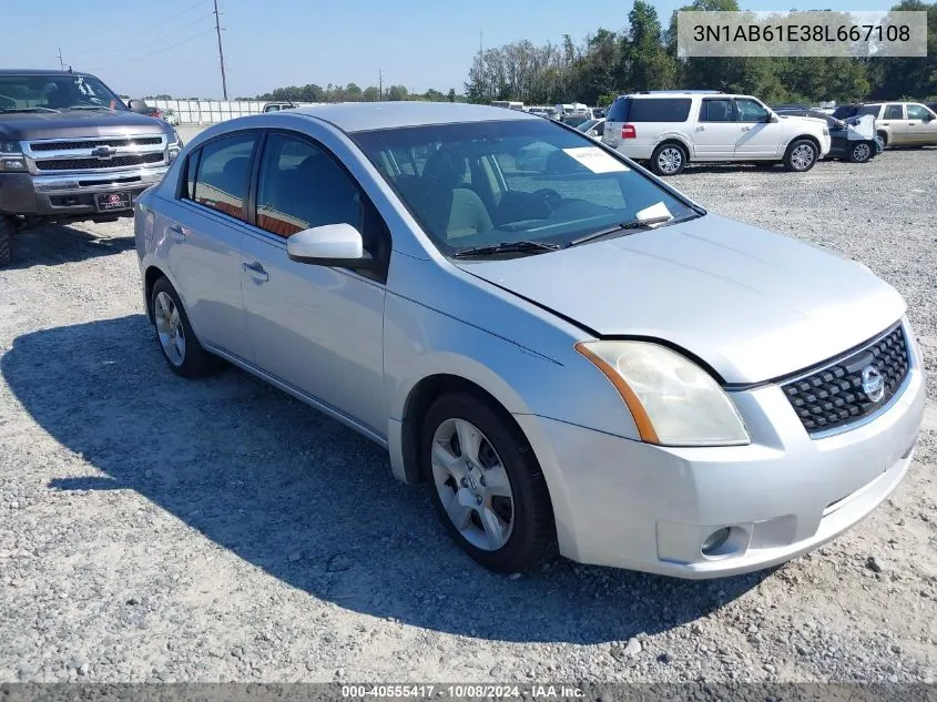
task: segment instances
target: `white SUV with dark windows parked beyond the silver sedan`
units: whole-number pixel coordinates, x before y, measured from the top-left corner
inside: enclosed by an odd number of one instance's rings
[[[750,95],[661,91],[621,95],[609,108],[602,141],[658,175],[691,161],[783,163],[809,171],[829,152],[823,120],[781,116]]]

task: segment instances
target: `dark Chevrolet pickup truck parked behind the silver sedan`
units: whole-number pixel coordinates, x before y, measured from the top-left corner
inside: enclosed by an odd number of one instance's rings
[[[133,216],[181,146],[93,75],[0,70],[0,267],[23,227]]]

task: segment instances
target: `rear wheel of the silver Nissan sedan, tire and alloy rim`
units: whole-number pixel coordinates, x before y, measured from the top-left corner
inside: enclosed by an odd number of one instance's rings
[[[165,277],[153,285],[150,308],[156,342],[173,373],[184,378],[198,378],[217,370],[220,359],[202,348],[195,338],[179,293]]]

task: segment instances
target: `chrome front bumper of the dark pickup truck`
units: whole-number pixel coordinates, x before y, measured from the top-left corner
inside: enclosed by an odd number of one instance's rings
[[[55,175],[0,174],[0,213],[42,217],[131,216],[132,200],[163,180],[167,165]],[[98,212],[94,195],[131,193],[131,207]]]

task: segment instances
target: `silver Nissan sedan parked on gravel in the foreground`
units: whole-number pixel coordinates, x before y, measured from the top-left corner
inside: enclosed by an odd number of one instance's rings
[[[385,446],[499,571],[556,550],[684,578],[765,568],[855,525],[911,464],[923,365],[894,288],[550,120],[231,120],[139,199],[135,235],[172,370],[233,364]]]

